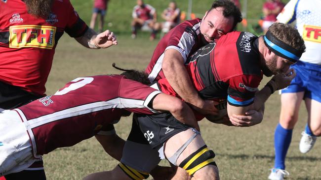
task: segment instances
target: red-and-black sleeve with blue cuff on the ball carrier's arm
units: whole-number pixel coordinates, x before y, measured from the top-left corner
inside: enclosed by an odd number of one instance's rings
[[[254,102],[255,92],[262,78],[257,75],[240,75],[229,80],[228,102],[234,106],[248,106]]]

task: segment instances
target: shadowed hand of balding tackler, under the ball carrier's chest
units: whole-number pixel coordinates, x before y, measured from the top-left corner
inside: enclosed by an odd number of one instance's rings
[[[216,101],[201,99],[198,105],[192,107],[202,115],[218,115],[218,110],[215,107],[218,104]]]

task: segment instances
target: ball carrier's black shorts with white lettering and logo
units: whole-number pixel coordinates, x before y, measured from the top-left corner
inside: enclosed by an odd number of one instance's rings
[[[191,126],[181,123],[176,120],[170,113],[158,114],[158,115],[141,115],[134,114],[134,122],[139,126],[140,135],[134,135],[138,133],[130,133],[128,140],[136,143],[148,142],[148,144],[154,149],[163,144],[170,137],[175,134],[185,131],[191,128]],[[138,126],[132,126],[132,128],[138,128]],[[138,131],[132,129],[132,131]],[[132,137],[130,137],[132,136]],[[142,140],[142,138],[146,140]]]

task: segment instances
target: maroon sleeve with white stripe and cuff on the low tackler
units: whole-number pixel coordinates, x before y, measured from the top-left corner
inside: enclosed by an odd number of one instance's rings
[[[148,104],[161,91],[125,78],[122,78],[119,90],[121,108],[139,114],[159,113],[149,108]]]

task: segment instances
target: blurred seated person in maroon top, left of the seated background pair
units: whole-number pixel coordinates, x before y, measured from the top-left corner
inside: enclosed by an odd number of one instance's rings
[[[155,39],[156,30],[154,30],[157,22],[157,13],[153,6],[145,4],[143,0],[137,0],[132,12],[133,20],[131,22],[131,37],[134,39],[137,35],[137,30],[152,31],[150,40]]]

